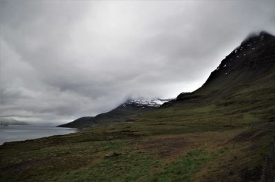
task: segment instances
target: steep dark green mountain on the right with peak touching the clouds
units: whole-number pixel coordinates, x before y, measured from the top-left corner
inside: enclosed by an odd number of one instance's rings
[[[226,56],[201,88],[178,95],[150,117],[164,113],[175,117],[192,110],[197,116],[217,113],[230,123],[269,121],[275,119],[274,99],[275,38],[261,32],[246,38]]]

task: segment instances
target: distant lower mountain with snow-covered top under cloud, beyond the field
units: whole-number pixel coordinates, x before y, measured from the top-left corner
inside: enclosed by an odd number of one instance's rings
[[[107,112],[101,113],[96,116],[80,117],[73,122],[67,124],[62,124],[58,127],[67,128],[86,128],[91,126],[99,126],[106,124],[113,124],[118,122],[131,122],[133,117],[146,113],[148,111],[153,111],[159,106],[168,102],[171,99],[155,99],[155,100],[127,100],[115,109]]]

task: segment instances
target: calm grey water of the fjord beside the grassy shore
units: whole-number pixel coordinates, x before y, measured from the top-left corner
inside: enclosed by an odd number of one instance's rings
[[[21,141],[75,132],[74,128],[50,126],[0,126],[0,145],[7,141]]]

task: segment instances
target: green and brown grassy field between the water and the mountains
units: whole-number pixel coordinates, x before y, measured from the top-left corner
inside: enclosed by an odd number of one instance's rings
[[[0,181],[257,181],[274,131],[193,112],[4,144]]]

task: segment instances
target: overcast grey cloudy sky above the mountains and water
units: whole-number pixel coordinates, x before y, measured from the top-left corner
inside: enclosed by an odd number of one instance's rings
[[[1,1],[0,115],[64,124],[195,91],[275,1]]]

